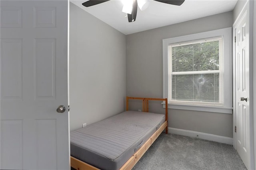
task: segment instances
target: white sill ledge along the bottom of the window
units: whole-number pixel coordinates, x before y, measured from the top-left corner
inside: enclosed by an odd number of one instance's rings
[[[162,103],[165,108],[165,103]],[[200,105],[182,105],[182,104],[168,104],[168,109],[181,109],[189,111],[203,111],[203,112],[214,112],[214,113],[227,113],[232,114],[232,107],[218,107],[218,106],[200,106]]]

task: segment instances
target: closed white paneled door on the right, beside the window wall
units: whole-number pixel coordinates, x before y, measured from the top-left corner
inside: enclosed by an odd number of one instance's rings
[[[247,6],[248,7],[248,4]],[[250,120],[250,73],[249,73],[249,8],[244,8],[237,24],[234,25],[234,62],[235,62],[235,89],[234,114],[236,117],[235,148],[245,166],[251,169],[251,120]]]

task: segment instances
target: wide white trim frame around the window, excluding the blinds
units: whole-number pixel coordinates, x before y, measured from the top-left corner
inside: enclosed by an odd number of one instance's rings
[[[214,37],[223,38],[223,105],[194,105],[171,103],[168,101],[168,108],[193,111],[207,111],[216,113],[232,114],[232,28],[223,28],[186,36],[164,39],[163,43],[163,97],[168,98],[168,46],[170,44],[185,43],[209,39]],[[165,105],[163,105],[165,107]]]

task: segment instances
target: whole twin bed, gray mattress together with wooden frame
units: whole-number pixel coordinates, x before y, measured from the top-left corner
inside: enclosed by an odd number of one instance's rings
[[[128,111],[129,99],[142,112]],[[165,101],[165,115],[148,113],[148,101]],[[126,97],[126,111],[70,132],[71,167],[76,170],[130,170],[165,129],[167,99]]]

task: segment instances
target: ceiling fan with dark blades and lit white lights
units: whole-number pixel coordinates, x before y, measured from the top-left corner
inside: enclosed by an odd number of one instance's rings
[[[82,3],[82,5],[89,7],[89,6],[94,6],[107,1],[109,0],[88,0]],[[185,0],[155,0],[155,1],[162,2],[165,4],[180,6],[181,4],[183,4]],[[127,13],[128,22],[134,22],[136,20],[138,6],[140,10],[143,11],[148,7],[148,4],[149,4],[148,0],[122,0],[122,2],[124,4],[122,12]]]

